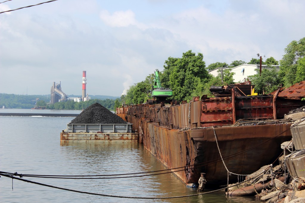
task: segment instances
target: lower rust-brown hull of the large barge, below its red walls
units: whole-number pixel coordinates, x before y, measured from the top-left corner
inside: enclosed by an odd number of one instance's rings
[[[145,119],[139,119],[137,123],[140,142],[167,168],[182,167],[172,171],[176,171],[175,174],[184,183],[197,183],[200,173],[206,173],[207,186],[227,183],[227,171],[221,162],[213,128],[179,131],[149,123]],[[289,127],[290,124],[215,128],[228,170],[237,174],[250,174],[272,163],[282,151],[280,144],[291,139],[290,130],[287,130]],[[278,134],[281,135],[267,141]],[[259,144],[262,145],[236,154]],[[231,180],[236,182],[237,176],[231,175]]]

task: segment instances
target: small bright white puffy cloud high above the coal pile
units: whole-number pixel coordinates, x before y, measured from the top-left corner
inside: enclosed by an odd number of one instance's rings
[[[127,27],[129,25],[136,25],[135,13],[131,10],[116,11],[113,15],[109,14],[107,10],[102,10],[100,13],[101,20],[110,27]]]

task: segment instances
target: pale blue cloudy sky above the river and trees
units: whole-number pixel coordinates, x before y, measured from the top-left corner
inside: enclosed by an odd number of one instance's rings
[[[4,2],[2,0],[1,2]],[[0,3],[0,12],[47,0]],[[303,0],[58,0],[0,14],[0,93],[120,96],[192,50],[208,66],[282,59],[305,37]]]

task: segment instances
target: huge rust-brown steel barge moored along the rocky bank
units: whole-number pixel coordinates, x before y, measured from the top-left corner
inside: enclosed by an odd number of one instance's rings
[[[243,85],[252,91],[251,84]],[[184,183],[198,183],[200,173],[206,173],[207,186],[220,186],[227,184],[227,169],[250,174],[276,160],[280,144],[291,140],[291,123],[278,119],[304,105],[300,99],[279,97],[280,89],[246,96],[242,87],[231,88],[230,95],[194,97],[189,103],[121,106],[116,111],[133,123],[139,142]],[[236,178],[229,176],[230,182]]]

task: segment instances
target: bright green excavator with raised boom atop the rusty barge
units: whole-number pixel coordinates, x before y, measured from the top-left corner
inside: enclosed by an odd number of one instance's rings
[[[161,102],[168,102],[167,98],[173,96],[173,91],[171,88],[161,87],[161,81],[159,77],[159,71],[155,71],[154,84],[152,85],[152,98],[148,99],[147,103],[156,104]]]

